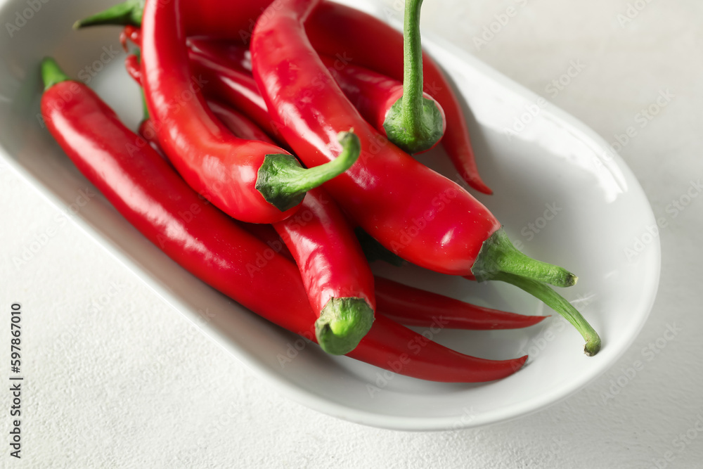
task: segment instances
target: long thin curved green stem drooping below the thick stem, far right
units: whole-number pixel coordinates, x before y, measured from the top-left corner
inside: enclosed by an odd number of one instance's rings
[[[565,300],[564,297],[556,293],[554,290],[549,288],[547,285],[541,282],[531,280],[529,278],[523,278],[514,274],[500,273],[494,276],[494,280],[503,281],[515,285],[517,288],[521,288],[530,295],[543,301],[548,307],[557,311],[557,313],[564,316],[564,318],[572,323],[572,325],[579,331],[581,336],[586,340],[586,346],[583,347],[583,352],[588,356],[593,356],[600,351],[600,336],[591,327],[591,324],[586,321],[586,319],[581,316],[581,313],[576,310]]]

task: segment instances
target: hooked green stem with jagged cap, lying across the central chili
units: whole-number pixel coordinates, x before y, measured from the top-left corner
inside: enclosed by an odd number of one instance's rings
[[[337,135],[342,153],[323,165],[305,169],[293,155],[266,155],[259,168],[257,190],[281,212],[302,202],[305,193],[347,171],[359,158],[361,143],[352,130]]]

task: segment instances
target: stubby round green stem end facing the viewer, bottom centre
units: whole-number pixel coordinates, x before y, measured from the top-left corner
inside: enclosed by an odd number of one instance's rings
[[[328,354],[352,352],[373,324],[373,309],[362,298],[331,298],[315,321],[318,344]]]

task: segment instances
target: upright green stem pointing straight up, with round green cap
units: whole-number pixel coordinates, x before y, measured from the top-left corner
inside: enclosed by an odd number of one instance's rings
[[[410,154],[429,150],[444,134],[444,116],[435,101],[423,96],[422,5],[423,0],[406,0],[403,96],[391,106],[383,122],[389,140]]]

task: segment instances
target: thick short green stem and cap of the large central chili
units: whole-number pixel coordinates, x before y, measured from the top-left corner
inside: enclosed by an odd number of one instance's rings
[[[471,273],[479,282],[494,280],[501,273],[515,274],[557,287],[570,287],[579,280],[567,269],[524,255],[512,245],[502,226],[484,241]]]

